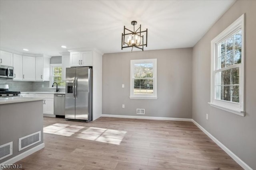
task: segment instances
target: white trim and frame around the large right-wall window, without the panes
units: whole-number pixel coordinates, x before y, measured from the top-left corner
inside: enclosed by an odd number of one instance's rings
[[[235,113],[240,116],[245,116],[244,110],[244,57],[245,57],[245,34],[244,34],[244,17],[243,14],[236,21],[234,21],[230,26],[228,26],[224,31],[222,31],[217,37],[211,41],[211,102],[210,106],[216,107],[231,113]],[[239,72],[239,103],[228,102],[224,100],[215,99],[215,70],[216,70],[216,46],[218,43],[222,42],[224,39],[232,35],[234,32],[242,29],[242,60],[240,64]]]

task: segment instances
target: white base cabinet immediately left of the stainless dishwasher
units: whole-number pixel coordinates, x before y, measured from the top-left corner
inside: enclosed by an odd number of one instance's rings
[[[44,116],[55,117],[54,115],[54,94],[36,94],[36,98],[44,98],[43,113]]]

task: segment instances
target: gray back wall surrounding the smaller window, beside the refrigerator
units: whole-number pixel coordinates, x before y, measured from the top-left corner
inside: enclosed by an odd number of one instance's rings
[[[130,60],[155,58],[158,99],[130,99]],[[145,109],[140,116],[192,118],[192,48],[103,55],[102,114],[137,115],[136,108]]]

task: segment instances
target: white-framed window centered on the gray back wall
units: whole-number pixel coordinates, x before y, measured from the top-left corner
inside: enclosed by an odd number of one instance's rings
[[[156,59],[131,60],[130,98],[156,99]]]

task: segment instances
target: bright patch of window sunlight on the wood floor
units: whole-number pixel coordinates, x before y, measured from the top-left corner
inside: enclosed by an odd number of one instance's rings
[[[79,139],[86,139],[90,141],[98,141],[115,145],[120,145],[126,134],[126,131],[118,131],[114,129],[104,129],[98,127],[89,127],[88,129],[85,128],[87,127],[54,123],[44,127],[44,133],[51,133],[54,135],[62,136],[74,136]]]

